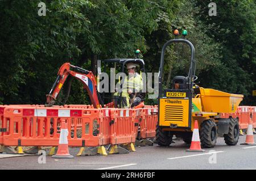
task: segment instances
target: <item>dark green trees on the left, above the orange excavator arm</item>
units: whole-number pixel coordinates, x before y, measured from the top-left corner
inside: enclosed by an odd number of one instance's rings
[[[103,59],[134,56],[137,48],[145,52],[144,36],[156,30],[158,15],[171,15],[179,4],[56,0],[45,1],[46,16],[38,16],[39,2],[0,2],[0,98],[5,104],[44,103],[64,62],[90,69],[95,54]],[[68,103],[86,103],[80,101],[83,94],[73,83]]]

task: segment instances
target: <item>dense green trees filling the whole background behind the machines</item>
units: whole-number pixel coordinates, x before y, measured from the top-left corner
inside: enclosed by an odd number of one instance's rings
[[[96,73],[98,58],[134,57],[139,48],[147,72],[158,72],[160,50],[177,28],[195,45],[200,86],[255,105],[255,1],[216,0],[217,16],[201,0],[45,0],[46,16],[38,15],[40,2],[0,1],[0,104],[43,104],[64,62]],[[168,47],[167,84],[187,73],[189,56],[186,45]],[[67,103],[89,103],[78,81]]]

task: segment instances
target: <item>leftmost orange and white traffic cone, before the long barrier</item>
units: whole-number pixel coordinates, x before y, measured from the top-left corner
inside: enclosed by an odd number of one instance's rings
[[[60,140],[56,155],[52,158],[74,158],[68,151],[68,124],[61,120]]]

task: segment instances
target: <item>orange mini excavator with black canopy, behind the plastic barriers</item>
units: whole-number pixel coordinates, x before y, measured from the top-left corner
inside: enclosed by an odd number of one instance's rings
[[[144,61],[138,58],[139,50],[136,52],[136,58],[114,58],[103,60],[103,62],[109,63],[119,63],[122,66],[122,72],[125,71],[125,65],[129,62],[134,62],[135,64],[139,64],[142,66],[142,70],[144,71]],[[72,69],[72,70],[71,70]],[[101,97],[100,92],[97,90],[97,81],[94,77],[92,71],[82,69],[78,66],[71,65],[69,62],[64,63],[58,73],[56,81],[53,83],[51,91],[46,95],[46,107],[51,107],[54,105],[57,96],[60,93],[61,88],[63,87],[65,81],[67,81],[68,76],[75,77],[79,81],[82,82],[83,88],[86,92],[88,92],[91,103],[94,108],[104,108],[104,107],[115,107],[117,108],[117,100],[114,102],[110,102],[104,105],[104,96]],[[121,99],[122,94],[119,94],[119,98]],[[143,107],[144,102],[142,101],[139,105],[134,106],[133,108]]]

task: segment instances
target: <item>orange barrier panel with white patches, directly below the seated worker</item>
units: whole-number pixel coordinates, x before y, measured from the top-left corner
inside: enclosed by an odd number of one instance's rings
[[[110,112],[110,144],[135,142],[135,116],[135,109],[112,108]]]

